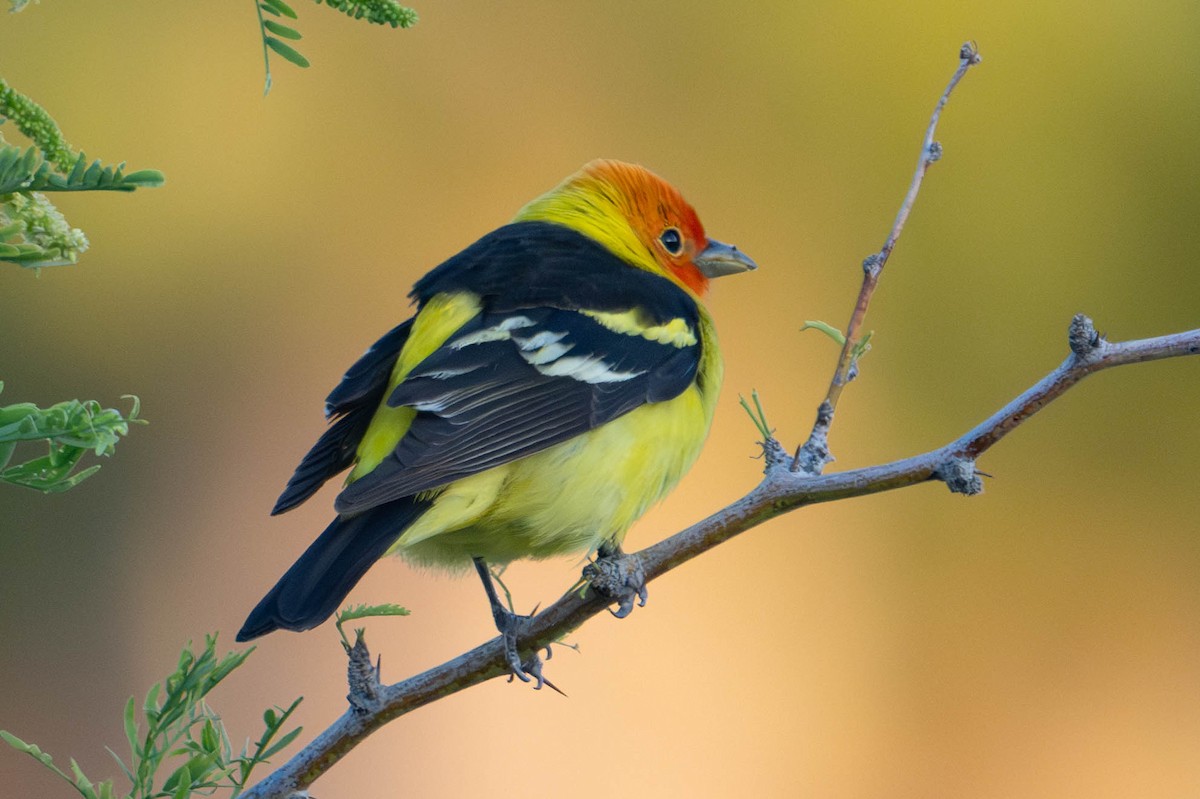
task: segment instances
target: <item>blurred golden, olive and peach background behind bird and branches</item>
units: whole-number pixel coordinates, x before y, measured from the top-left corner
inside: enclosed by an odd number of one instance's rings
[[[976,38],[844,397],[838,468],[931,449],[1112,338],[1200,323],[1194,2],[418,2],[410,31],[296,2],[300,71],[262,96],[250,2],[53,0],[0,19],[0,74],[68,139],[164,188],[61,198],[91,251],[0,269],[4,400],[142,397],[77,489],[0,487],[0,727],[114,774],[121,708],[245,613],[326,523],[270,509],[322,401],[412,282],[598,156],[683,188],[761,270],[714,286],[709,445],[636,548],[755,485],[757,389],[804,437],[860,259]],[[358,797],[1200,795],[1200,362],[1087,380],[937,485],[770,522],[598,618],[551,675],[374,735],[314,786]],[[32,450],[28,450],[32,453]],[[514,567],[518,603],[578,564]],[[474,578],[378,565],[355,601],[400,679],[493,635]],[[235,734],[344,707],[331,626],[260,642],[214,697]],[[0,751],[0,794],[70,789]]]

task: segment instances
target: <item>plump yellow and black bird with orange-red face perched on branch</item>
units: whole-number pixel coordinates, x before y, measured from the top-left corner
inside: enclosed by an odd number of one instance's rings
[[[330,426],[271,513],[349,469],[337,516],[238,641],[317,626],[397,554],[474,566],[510,669],[540,686],[540,661],[517,655],[529,617],[499,602],[488,565],[620,552],[712,425],[724,362],[709,280],[754,269],[666,180],[598,160],[431,270],[415,314],[325,400]]]

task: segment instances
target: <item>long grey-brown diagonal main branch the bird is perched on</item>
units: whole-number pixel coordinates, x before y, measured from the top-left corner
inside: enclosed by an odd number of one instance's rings
[[[833,475],[792,471],[786,462],[768,461],[766,476],[749,494],[682,533],[634,554],[649,582],[696,555],[712,549],[787,511],[851,497],[904,488],[930,480],[952,491],[978,493],[982,485],[974,459],[1018,425],[1093,372],[1114,366],[1200,354],[1200,330],[1111,344],[1098,335],[1087,317],[1072,320],[1072,353],[1067,360],[990,419],[962,437],[924,455]],[[542,649],[575,630],[607,606],[588,591],[570,591],[534,617],[522,641],[522,656]],[[242,794],[244,799],[284,799],[304,792],[334,763],[376,729],[410,710],[508,673],[503,644],[493,638],[454,660],[395,685],[378,689],[371,710],[348,709],[325,732],[274,774]]]

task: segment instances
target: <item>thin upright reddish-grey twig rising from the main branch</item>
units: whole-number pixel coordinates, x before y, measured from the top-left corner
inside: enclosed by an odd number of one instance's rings
[[[954,86],[959,85],[959,80],[967,73],[967,70],[982,60],[983,56],[979,55],[979,50],[973,42],[967,42],[959,49],[959,68],[950,77],[946,91],[942,92],[937,106],[934,108],[934,114],[929,119],[925,138],[920,143],[920,157],[917,160],[917,170],[913,173],[912,182],[908,185],[908,193],[905,194],[895,222],[892,223],[892,230],[888,233],[883,247],[863,260],[863,287],[858,292],[858,300],[854,302],[854,312],[850,317],[850,324],[846,325],[841,355],[838,358],[838,366],[834,368],[833,379],[829,382],[829,391],[826,392],[826,398],[817,408],[817,417],[812,423],[812,432],[809,433],[809,440],[796,450],[796,457],[792,458],[793,471],[821,474],[826,464],[833,461],[833,456],[829,453],[829,426],[833,423],[834,413],[838,410],[838,400],[841,397],[841,390],[846,388],[847,383],[854,379],[858,370],[858,352],[863,342],[859,337],[859,331],[863,329],[863,319],[866,318],[866,308],[871,304],[871,298],[875,295],[875,287],[880,283],[883,268],[887,265],[888,258],[892,257],[892,251],[895,250],[905,222],[908,221],[912,206],[917,202],[917,194],[920,192],[922,181],[925,180],[925,173],[929,170],[931,163],[942,157],[942,145],[934,140],[937,122],[942,118],[942,109],[946,108],[946,102],[950,98],[950,92],[954,91]]]

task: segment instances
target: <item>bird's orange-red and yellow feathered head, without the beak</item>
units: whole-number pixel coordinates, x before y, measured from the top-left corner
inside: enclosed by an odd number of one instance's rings
[[[704,226],[678,188],[644,167],[592,161],[514,218],[532,221],[572,228],[696,296],[708,290],[708,277],[694,263],[709,245]]]

